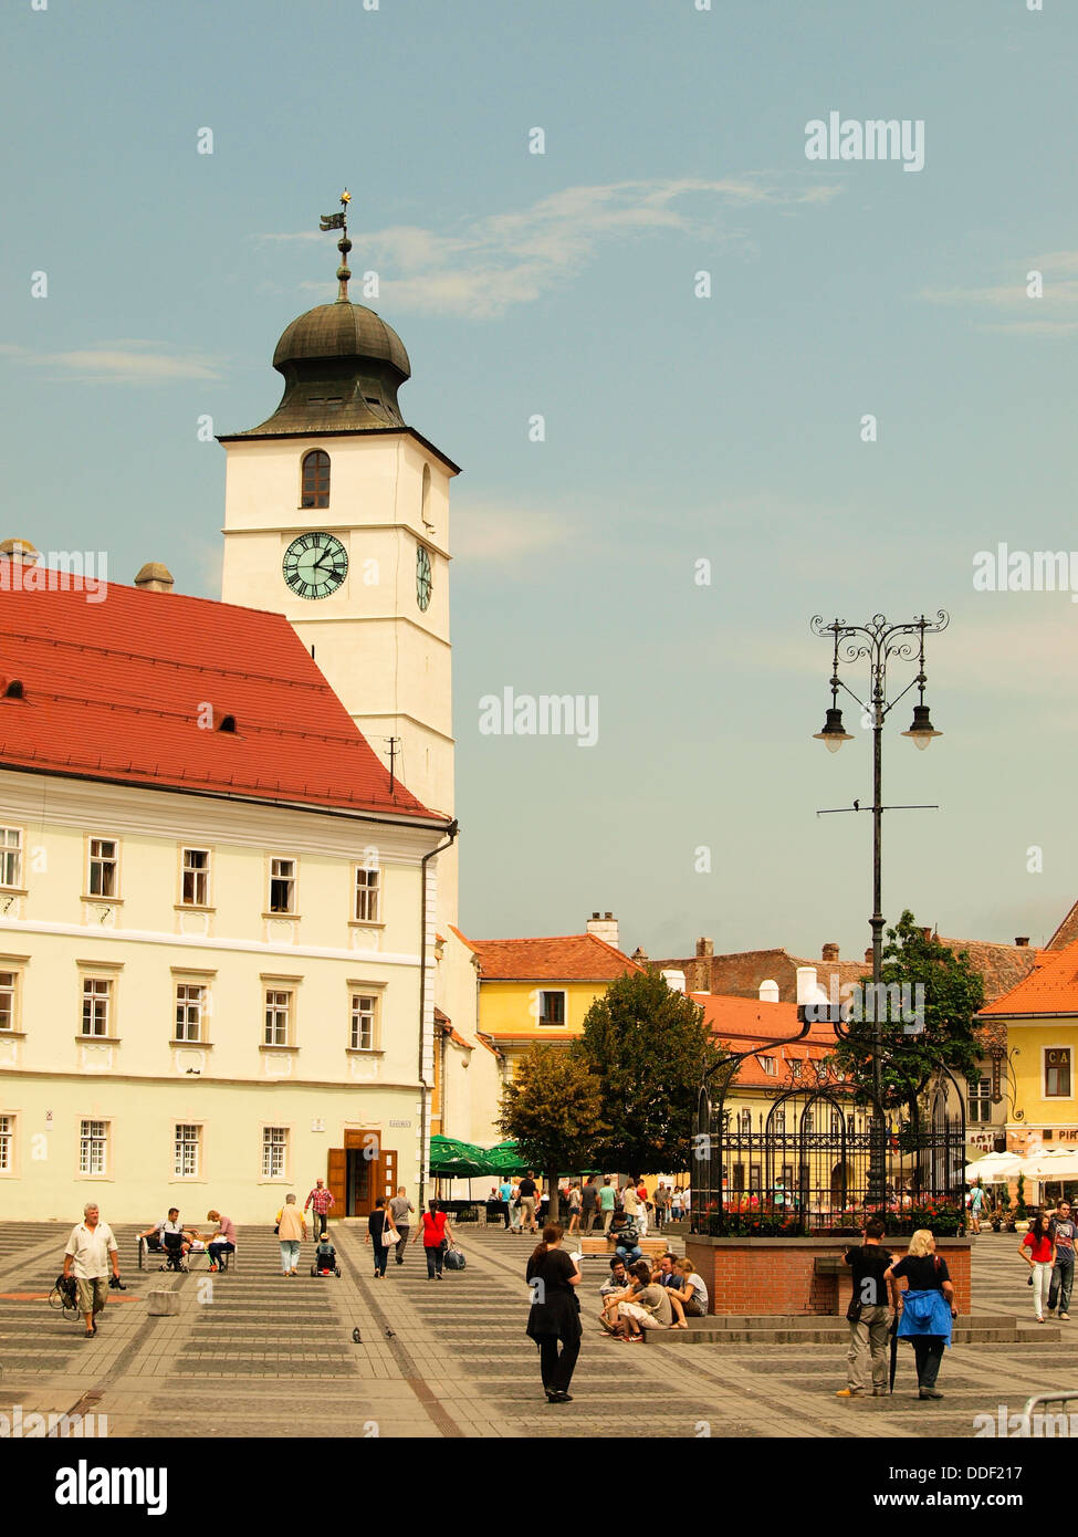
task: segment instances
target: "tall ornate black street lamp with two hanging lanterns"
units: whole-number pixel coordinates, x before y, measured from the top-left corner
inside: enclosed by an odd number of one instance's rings
[[[835,619],[824,624],[821,615],[812,619],[815,635],[829,635],[833,641],[833,659],[830,672],[830,709],[823,730],[815,733],[815,741],[823,742],[829,752],[838,752],[843,742],[852,736],[843,727],[843,712],[838,707],[838,690],[843,689],[861,707],[863,716],[872,725],[872,993],[873,993],[873,1031],[872,1031],[872,1111],[877,1134],[872,1137],[869,1162],[869,1199],[883,1202],[886,1188],[886,1117],[883,1110],[883,1021],[878,1002],[883,996],[883,930],[884,916],[881,911],[881,845],[883,845],[883,813],[900,810],[937,810],[937,807],[898,807],[883,804],[883,722],[893,707],[904,699],[910,689],[918,690],[918,704],[913,705],[913,722],[903,736],[909,736],[918,749],[926,749],[933,736],[941,736],[932,725],[929,707],[924,702],[924,636],[946,630],[947,613],[938,610],[937,618],[929,621],[921,615],[904,624],[889,624],[883,613],[873,613],[867,624],[846,624]],[[887,699],[887,666],[892,661],[910,661],[917,658],[917,675],[910,682]],[[853,690],[840,678],[840,662],[857,666],[869,664],[867,699],[860,699]],[[850,810],[850,807],[837,807]],[[852,810],[869,810],[853,802]],[[841,1034],[846,1031],[837,1025]]]

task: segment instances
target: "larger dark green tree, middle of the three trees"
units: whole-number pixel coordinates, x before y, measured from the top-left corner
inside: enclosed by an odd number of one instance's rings
[[[687,1170],[701,1076],[726,1057],[700,1004],[658,971],[629,973],[587,1010],[581,1050],[615,1117],[600,1162],[626,1174]]]

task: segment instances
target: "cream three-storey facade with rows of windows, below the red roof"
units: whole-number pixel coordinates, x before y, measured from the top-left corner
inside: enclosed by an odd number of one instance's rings
[[[12,773],[0,825],[22,853],[20,885],[0,885],[6,1217],[68,1219],[92,1196],[115,1220],[177,1205],[266,1222],[318,1176],[337,1214],[418,1188],[420,882],[437,832]],[[372,848],[377,919],[357,922]],[[294,916],[271,913],[274,868]]]

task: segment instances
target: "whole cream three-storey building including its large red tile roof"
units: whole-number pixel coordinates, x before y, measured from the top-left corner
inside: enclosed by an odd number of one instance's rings
[[[451,824],[283,616],[0,566],[5,1217],[417,1191]]]

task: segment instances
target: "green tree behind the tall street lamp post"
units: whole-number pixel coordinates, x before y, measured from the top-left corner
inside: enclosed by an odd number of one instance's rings
[[[857,1097],[872,1096],[872,1041],[875,1021],[881,1019],[883,1104],[910,1110],[932,1073],[949,1068],[957,1079],[980,1077],[980,1027],[975,1014],[984,1004],[984,982],[970,964],[969,953],[955,954],[938,939],[918,928],[906,908],[895,928],[887,930],[883,950],[883,984],[887,996],[872,993],[872,978],[861,978],[861,1019],[849,1024],[849,1039],[832,1053],[833,1064],[855,1085]],[[907,991],[903,991],[907,990]],[[901,1005],[920,1017],[901,1016]],[[924,1028],[912,1033],[910,1024]]]

